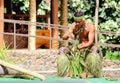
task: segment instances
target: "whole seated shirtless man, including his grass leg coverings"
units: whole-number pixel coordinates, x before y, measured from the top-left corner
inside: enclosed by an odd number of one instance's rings
[[[77,50],[72,53],[72,55],[76,52],[79,52],[79,49],[82,53],[82,58],[86,64],[86,66],[84,65],[84,69],[82,71],[82,73],[80,73],[80,77],[82,78],[86,78],[89,77],[90,75],[92,75],[93,77],[100,77],[101,75],[101,58],[99,56],[99,53],[97,53],[98,48],[96,46],[93,46],[94,43],[94,36],[95,36],[95,27],[92,23],[88,23],[84,20],[84,14],[83,12],[79,11],[79,12],[75,12],[74,14],[74,22],[72,23],[71,27],[69,28],[69,30],[63,35],[63,39],[68,39],[68,38],[75,38],[79,40],[79,44],[77,46]],[[84,55],[85,52],[85,48],[91,48],[89,49],[89,53]],[[71,51],[72,47],[68,46],[68,47],[63,47],[60,48],[60,52],[63,51],[62,53],[67,54],[66,55],[61,55],[58,58],[58,76],[70,76],[70,71],[64,72],[68,66],[68,68],[71,68],[70,65],[64,65],[64,64],[71,64],[71,61],[76,64],[74,64],[74,68],[72,69],[78,69],[76,70],[77,72],[79,72],[79,68],[77,68],[79,64],[82,64],[79,60],[77,60],[78,58],[75,58],[75,55],[72,56],[69,55],[69,51]],[[71,53],[71,52],[70,52]],[[87,56],[86,56],[87,55]],[[81,56],[81,55],[80,55]],[[81,60],[81,59],[80,59]],[[93,61],[94,60],[94,61]],[[80,62],[80,63],[77,63]],[[72,64],[72,65],[73,65]],[[82,64],[83,65],[83,64]],[[62,70],[61,70],[62,69]],[[68,69],[69,70],[69,69]],[[63,74],[63,72],[65,74]],[[72,71],[74,72],[74,70]],[[75,72],[76,73],[76,72]],[[79,73],[78,73],[79,74]],[[79,76],[77,74],[75,74],[76,76]]]

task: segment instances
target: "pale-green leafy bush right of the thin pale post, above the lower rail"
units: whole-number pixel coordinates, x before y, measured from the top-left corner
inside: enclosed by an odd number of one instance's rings
[[[120,2],[118,0],[105,0],[99,8],[99,30],[120,32]],[[110,39],[118,39],[118,36],[99,35],[100,42],[108,42]],[[120,42],[120,40],[118,41]],[[119,44],[119,43],[118,43]]]

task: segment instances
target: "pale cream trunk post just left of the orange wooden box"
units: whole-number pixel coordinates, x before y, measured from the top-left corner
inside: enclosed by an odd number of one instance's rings
[[[32,23],[28,29],[28,33],[29,35],[35,36],[36,35],[36,26],[35,26],[35,22],[36,22],[36,0],[29,0],[30,2],[30,22]],[[33,25],[34,23],[34,25]],[[34,37],[29,37],[28,38],[28,49],[29,50],[35,50],[36,44],[36,38]]]

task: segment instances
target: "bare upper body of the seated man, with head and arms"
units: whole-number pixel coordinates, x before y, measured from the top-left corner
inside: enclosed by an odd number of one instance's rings
[[[79,45],[78,48],[83,50],[84,48],[93,45],[95,36],[95,27],[91,23],[87,23],[84,20],[83,12],[75,12],[74,22],[72,23],[69,30],[63,35],[63,39],[75,38],[78,36]]]

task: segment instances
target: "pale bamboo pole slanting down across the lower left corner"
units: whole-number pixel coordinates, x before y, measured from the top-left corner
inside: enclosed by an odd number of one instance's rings
[[[24,68],[21,68],[19,66],[16,66],[16,65],[13,65],[13,64],[10,64],[8,62],[5,62],[3,60],[0,60],[0,64],[5,66],[5,67],[8,67],[8,68],[11,68],[11,69],[14,69],[14,70],[17,70],[17,71],[20,71],[22,73],[25,73],[25,74],[29,74],[29,75],[32,75],[34,77],[37,77],[41,80],[45,80],[45,77],[41,74],[38,74],[36,72],[33,72],[33,71],[30,71],[30,70],[27,70],[27,69],[24,69]]]

